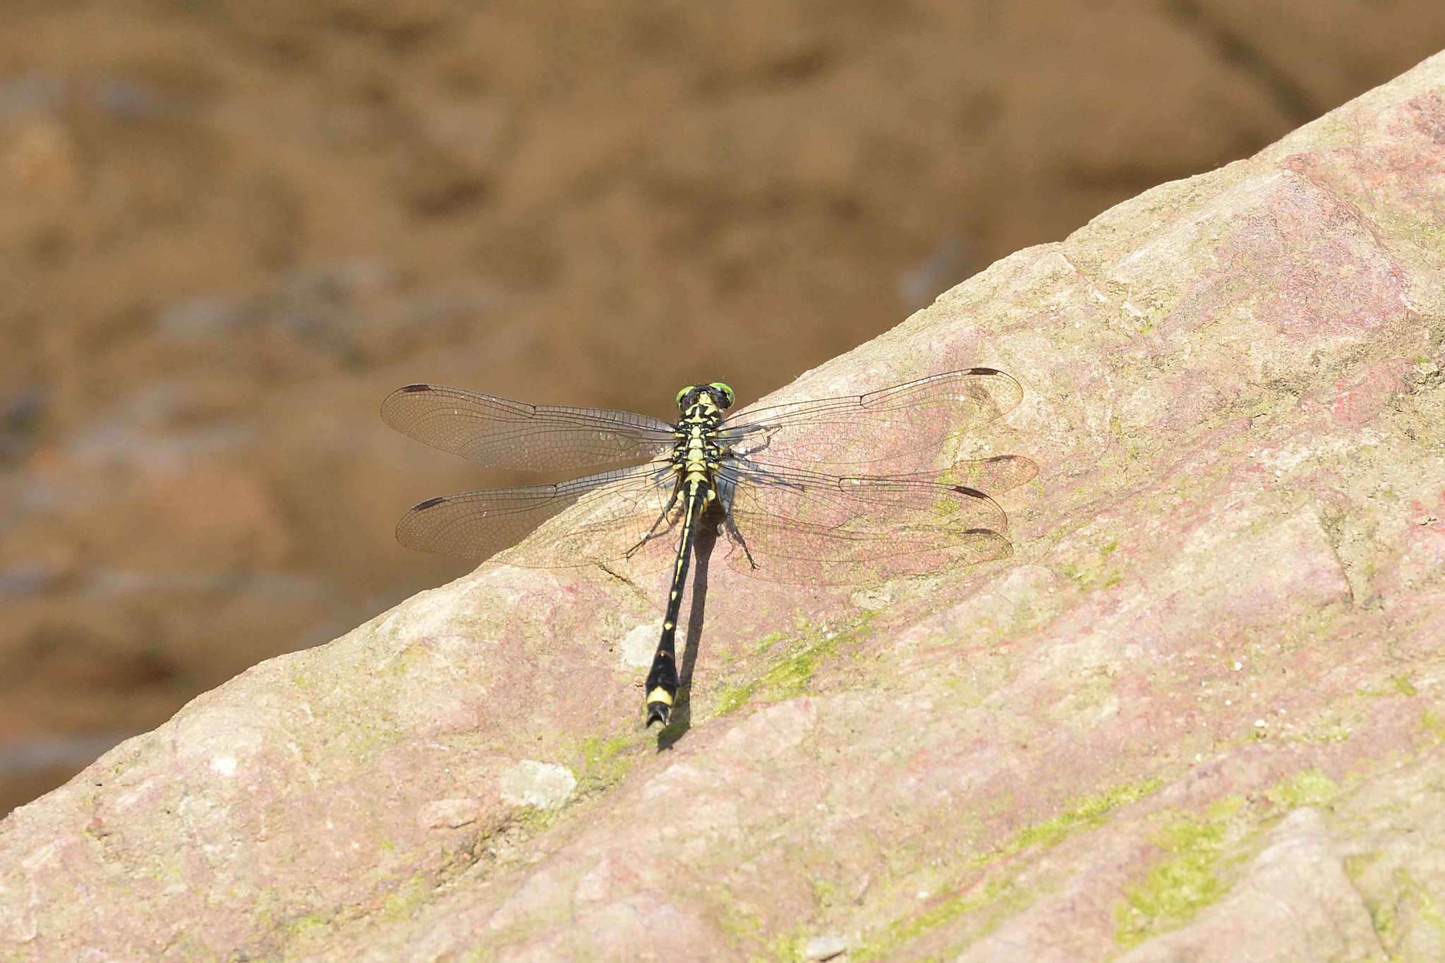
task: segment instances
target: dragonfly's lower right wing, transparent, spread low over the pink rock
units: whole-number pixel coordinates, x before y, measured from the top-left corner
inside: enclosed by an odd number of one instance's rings
[[[855,583],[1010,554],[993,498],[922,476],[838,476],[759,462],[720,472],[728,563],[776,582]],[[756,566],[756,567],[754,567]]]

